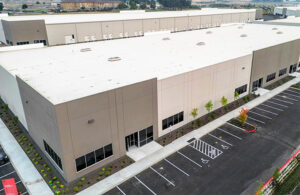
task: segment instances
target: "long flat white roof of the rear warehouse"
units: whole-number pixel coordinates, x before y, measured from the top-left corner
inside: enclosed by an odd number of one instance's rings
[[[46,24],[63,24],[79,22],[98,22],[115,20],[133,20],[149,18],[168,18],[180,16],[214,15],[226,13],[249,13],[255,9],[203,9],[189,11],[160,11],[160,12],[126,12],[105,14],[59,14],[59,15],[34,15],[34,16],[9,16],[6,21],[45,20]]]

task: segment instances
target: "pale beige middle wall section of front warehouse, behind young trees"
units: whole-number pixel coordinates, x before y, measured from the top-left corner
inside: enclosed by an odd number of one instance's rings
[[[211,100],[213,109],[221,106],[222,96],[233,101],[236,88],[248,84],[251,74],[252,55],[208,66],[167,79],[159,80],[158,90],[158,136],[190,122],[193,108],[199,109],[199,117],[206,114],[205,104]],[[222,79],[220,79],[222,78]],[[244,96],[247,92],[241,95]],[[162,130],[162,120],[184,111],[184,121],[172,129]]]

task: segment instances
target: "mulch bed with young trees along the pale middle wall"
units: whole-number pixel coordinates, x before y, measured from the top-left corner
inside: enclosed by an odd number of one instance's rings
[[[247,96],[244,96],[243,98],[240,98],[238,100],[235,100],[234,102],[228,104],[225,107],[219,108],[213,112],[210,112],[190,123],[187,123],[183,127],[180,127],[160,138],[158,138],[156,141],[162,145],[166,146],[169,143],[173,142],[174,140],[178,139],[179,137],[195,130],[198,129],[199,127],[206,125],[207,123],[223,116],[224,114],[231,112],[232,110],[244,105],[245,103],[253,100],[254,98],[258,97],[255,94],[249,94]]]

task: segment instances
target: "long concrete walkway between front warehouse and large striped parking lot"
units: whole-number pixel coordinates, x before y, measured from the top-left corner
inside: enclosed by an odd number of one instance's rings
[[[173,141],[172,143],[168,144],[167,146],[157,150],[155,153],[146,156],[139,161],[135,162],[134,164],[120,170],[119,172],[103,179],[102,181],[92,185],[91,187],[79,192],[79,195],[85,194],[104,194],[105,192],[111,190],[112,188],[120,185],[121,183],[125,182],[126,180],[130,179],[131,177],[141,173],[142,171],[148,169],[150,166],[158,163],[159,161],[163,160],[164,158],[168,157],[169,155],[175,153],[176,151],[184,148],[189,143],[187,142],[191,138],[201,138],[202,136],[208,134],[209,132],[215,130],[217,127],[223,125],[228,120],[237,117],[241,108],[252,109],[253,107],[263,103],[264,101],[272,98],[273,96],[281,93],[282,91],[289,88],[291,85],[300,82],[299,74],[295,79],[277,87],[276,89],[266,92],[264,91],[264,95],[248,102],[247,104],[223,115],[222,117],[208,123],[207,125],[196,129],[178,139]]]

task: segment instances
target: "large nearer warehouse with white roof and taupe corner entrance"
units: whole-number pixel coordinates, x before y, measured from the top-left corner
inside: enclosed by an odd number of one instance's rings
[[[202,116],[210,100],[218,109],[222,96],[287,76],[299,55],[297,28],[260,24],[10,51],[0,95],[14,86],[9,106],[22,105],[29,134],[72,182],[187,124],[193,108]]]

